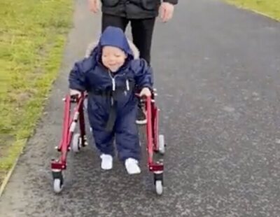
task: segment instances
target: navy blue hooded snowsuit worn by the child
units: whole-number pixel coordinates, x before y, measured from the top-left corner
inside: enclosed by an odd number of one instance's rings
[[[127,54],[125,64],[114,73],[102,64],[104,45],[118,47]],[[151,89],[152,69],[144,59],[134,59],[123,30],[116,27],[108,27],[90,57],[76,62],[69,74],[69,88],[88,93],[87,112],[97,148],[101,153],[114,155],[116,136],[118,157],[122,161],[140,158],[135,85],[140,90]]]

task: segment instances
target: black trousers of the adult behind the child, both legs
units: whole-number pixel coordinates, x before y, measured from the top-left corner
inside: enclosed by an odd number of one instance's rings
[[[102,32],[106,27],[119,27],[125,31],[128,23],[132,27],[132,41],[140,52],[140,58],[146,59],[148,64],[151,63],[151,45],[153,38],[153,28],[155,18],[149,19],[127,19],[118,16],[102,14]]]

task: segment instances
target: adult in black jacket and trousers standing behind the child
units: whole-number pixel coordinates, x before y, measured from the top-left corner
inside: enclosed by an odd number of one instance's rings
[[[90,10],[97,13],[100,0],[88,1]],[[178,0],[102,0],[101,2],[102,32],[108,26],[119,27],[125,31],[130,22],[133,43],[140,52],[140,58],[151,64],[155,18],[160,15],[162,22],[170,20]],[[146,123],[146,115],[141,109],[138,111],[137,123]]]

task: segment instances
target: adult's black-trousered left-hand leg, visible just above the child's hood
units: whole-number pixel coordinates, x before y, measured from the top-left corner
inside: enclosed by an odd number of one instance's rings
[[[109,26],[119,27],[125,31],[128,22],[127,18],[102,13],[102,32]]]

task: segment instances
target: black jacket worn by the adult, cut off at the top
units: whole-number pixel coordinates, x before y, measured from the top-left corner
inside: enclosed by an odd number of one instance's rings
[[[128,19],[146,19],[158,16],[161,0],[101,0],[102,13]],[[163,0],[177,4],[178,0]]]

